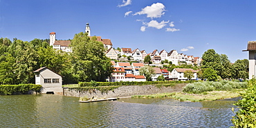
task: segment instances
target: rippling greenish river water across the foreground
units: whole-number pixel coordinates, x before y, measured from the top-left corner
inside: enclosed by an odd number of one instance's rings
[[[0,96],[1,127],[230,127],[237,98],[199,103],[172,98],[125,98],[79,103],[79,98]]]

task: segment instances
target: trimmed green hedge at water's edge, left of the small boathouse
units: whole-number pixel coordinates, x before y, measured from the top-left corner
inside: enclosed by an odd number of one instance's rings
[[[20,84],[20,85],[0,85],[0,95],[8,95],[14,93],[21,93],[25,94],[28,91],[35,91],[39,92],[42,85],[35,85],[35,84]]]

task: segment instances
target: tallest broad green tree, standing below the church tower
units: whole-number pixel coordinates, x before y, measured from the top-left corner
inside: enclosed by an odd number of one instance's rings
[[[102,42],[92,39],[87,33],[75,34],[71,41],[73,47],[74,73],[78,81],[106,81],[113,72],[110,59],[104,55]]]

